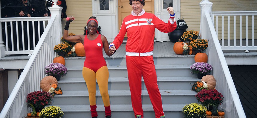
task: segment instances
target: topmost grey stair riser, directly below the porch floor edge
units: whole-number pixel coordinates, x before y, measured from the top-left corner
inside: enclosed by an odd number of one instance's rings
[[[194,57],[172,57],[172,58],[154,58],[155,65],[175,65],[178,63],[185,65],[192,65],[195,63]],[[66,67],[73,66],[83,66],[85,59],[76,59],[76,63],[74,63],[74,59],[65,59]],[[125,58],[105,58],[107,66],[126,66]],[[183,62],[183,63],[182,63]]]

